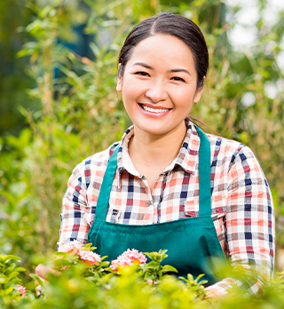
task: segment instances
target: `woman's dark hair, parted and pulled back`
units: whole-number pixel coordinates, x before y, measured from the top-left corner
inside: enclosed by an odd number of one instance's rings
[[[161,12],[143,20],[130,31],[118,58],[118,62],[121,63],[118,75],[123,75],[133,47],[146,37],[158,33],[176,36],[191,49],[197,72],[197,88],[202,87],[209,67],[209,55],[201,29],[192,20],[169,12]]]

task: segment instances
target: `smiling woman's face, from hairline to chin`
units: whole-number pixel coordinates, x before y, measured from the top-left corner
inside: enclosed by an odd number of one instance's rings
[[[185,117],[201,99],[193,53],[176,36],[149,36],[136,45],[116,90],[135,131],[185,134]]]

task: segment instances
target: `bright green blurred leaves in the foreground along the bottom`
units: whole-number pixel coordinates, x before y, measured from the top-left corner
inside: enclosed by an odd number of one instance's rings
[[[92,250],[87,245],[82,250]],[[16,284],[21,281],[16,267],[20,258],[1,256],[1,308],[281,308],[284,305],[284,272],[275,280],[264,282],[264,289],[258,296],[248,295],[243,289],[234,286],[223,297],[211,297],[200,281],[202,275],[193,279],[191,274],[183,281],[174,275],[163,272],[158,281],[151,284],[146,279],[145,272],[149,265],[165,258],[165,250],[147,254],[152,259],[147,265],[125,265],[119,273],[114,273],[105,262],[89,265],[78,258],[74,252],[59,252],[49,258],[56,273],[49,273],[47,281],[42,281],[31,273],[30,277],[39,282],[41,291],[36,296],[35,289],[20,293]],[[151,259],[151,258],[150,258]],[[161,266],[161,265],[160,265]],[[171,269],[169,269],[171,272]],[[239,269],[236,277],[246,280],[248,273]],[[19,286],[18,286],[19,287]]]

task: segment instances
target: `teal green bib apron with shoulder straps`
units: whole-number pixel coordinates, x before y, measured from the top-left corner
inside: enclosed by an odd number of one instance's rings
[[[201,129],[196,129],[201,139],[199,217],[180,218],[153,225],[106,222],[109,195],[117,167],[116,147],[106,168],[95,219],[88,234],[88,240],[97,248],[98,254],[107,256],[106,259],[111,261],[127,249],[142,252],[166,249],[169,257],[163,260],[163,264],[176,267],[178,276],[187,277],[187,273],[191,273],[196,278],[199,274],[205,273],[202,279],[208,280],[208,284],[217,281],[209,258],[218,257],[225,261],[225,255],[211,218],[210,144]]]

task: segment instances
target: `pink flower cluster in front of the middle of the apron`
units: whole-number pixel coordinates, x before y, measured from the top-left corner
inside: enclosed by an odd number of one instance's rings
[[[110,265],[110,268],[116,273],[120,268],[125,265],[133,265],[137,263],[138,265],[146,263],[146,256],[135,249],[128,249],[122,253],[117,259],[114,259]]]

